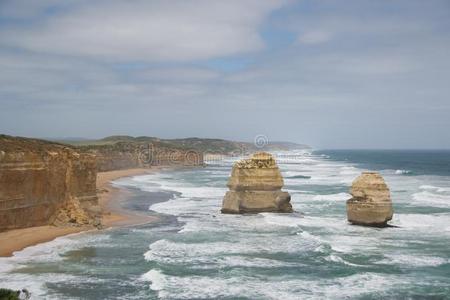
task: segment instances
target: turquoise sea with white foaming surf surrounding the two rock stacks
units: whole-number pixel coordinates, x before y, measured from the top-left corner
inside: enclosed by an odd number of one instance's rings
[[[37,299],[448,298],[450,153],[409,155],[278,153],[294,214],[220,214],[232,160],[124,178],[125,205],[160,222],[27,248],[0,260],[0,286]],[[388,182],[398,227],[347,223],[365,169]]]

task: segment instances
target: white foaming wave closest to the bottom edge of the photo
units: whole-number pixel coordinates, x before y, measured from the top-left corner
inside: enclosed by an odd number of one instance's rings
[[[163,299],[329,299],[354,298],[368,292],[383,293],[401,284],[413,284],[413,279],[396,275],[359,273],[338,278],[313,281],[289,275],[273,276],[273,281],[251,274],[231,277],[174,276],[152,269],[141,276]],[[323,287],[327,288],[324,289]]]

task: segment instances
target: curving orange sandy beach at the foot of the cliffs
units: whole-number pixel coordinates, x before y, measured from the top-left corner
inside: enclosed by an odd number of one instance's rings
[[[138,214],[121,207],[120,203],[128,199],[132,193],[125,189],[116,188],[111,181],[122,177],[143,175],[155,172],[151,169],[125,169],[97,174],[98,203],[102,209],[102,223],[104,228],[137,225],[157,220],[155,217]],[[57,237],[83,231],[96,230],[91,226],[56,227],[51,225],[13,229],[0,232],[0,257],[12,256],[15,251],[26,247],[54,240]]]

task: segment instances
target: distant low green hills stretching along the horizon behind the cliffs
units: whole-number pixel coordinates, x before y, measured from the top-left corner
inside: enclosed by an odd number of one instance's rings
[[[160,139],[148,136],[128,136],[113,135],[98,140],[59,140],[57,142],[70,144],[78,147],[114,145],[116,143],[152,143],[156,147],[166,147],[175,149],[191,149],[202,153],[217,154],[239,154],[255,151],[279,151],[294,149],[310,149],[304,144],[296,144],[292,142],[270,142],[263,141],[261,147],[257,147],[254,143],[228,141],[223,139],[210,138],[183,138],[183,139]]]

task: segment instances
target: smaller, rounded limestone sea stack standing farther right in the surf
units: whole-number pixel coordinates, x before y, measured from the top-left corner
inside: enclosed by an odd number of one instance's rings
[[[392,201],[383,177],[376,172],[363,172],[350,189],[347,219],[352,224],[385,227],[392,219]]]

